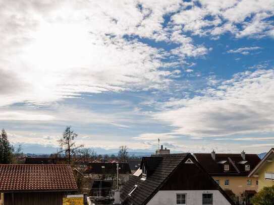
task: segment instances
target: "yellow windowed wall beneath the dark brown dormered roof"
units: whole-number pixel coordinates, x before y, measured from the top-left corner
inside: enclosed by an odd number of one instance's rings
[[[245,190],[255,190],[258,192],[258,185],[256,185],[257,177],[245,176],[213,176],[213,179],[220,181],[222,189],[231,189],[236,196],[241,197]],[[225,185],[225,180],[229,179],[229,185]],[[247,180],[251,179],[251,185],[247,185]]]

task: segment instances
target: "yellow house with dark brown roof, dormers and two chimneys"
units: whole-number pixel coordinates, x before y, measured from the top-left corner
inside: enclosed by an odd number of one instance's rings
[[[248,177],[260,162],[256,154],[195,153],[194,157],[207,173],[226,191],[232,191],[242,202],[258,191],[258,177]]]

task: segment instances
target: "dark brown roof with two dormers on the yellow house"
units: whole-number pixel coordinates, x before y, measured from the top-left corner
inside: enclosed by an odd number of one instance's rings
[[[257,154],[195,153],[194,157],[211,176],[248,176],[261,161]]]

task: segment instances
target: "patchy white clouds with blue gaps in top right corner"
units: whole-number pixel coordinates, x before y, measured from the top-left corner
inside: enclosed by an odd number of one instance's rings
[[[238,38],[271,35],[267,33],[273,29],[273,21],[267,19],[274,15],[274,3],[271,0],[197,2],[201,6],[182,10],[172,17],[175,24],[183,26],[184,31],[200,36],[219,36],[231,32]]]

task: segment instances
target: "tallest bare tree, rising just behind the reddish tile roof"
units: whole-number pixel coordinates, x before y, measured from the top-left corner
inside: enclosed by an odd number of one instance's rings
[[[76,133],[72,130],[71,126],[67,126],[62,138],[59,140],[60,147],[63,149],[60,152],[65,152],[68,155],[69,164],[71,164],[71,157],[74,153],[76,153],[77,149],[83,147],[82,145],[76,147],[75,139],[77,138]]]

